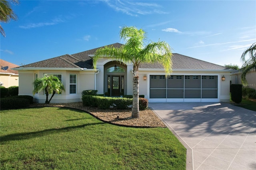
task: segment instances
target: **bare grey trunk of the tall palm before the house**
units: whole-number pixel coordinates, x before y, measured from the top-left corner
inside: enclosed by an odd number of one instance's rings
[[[132,118],[140,118],[139,110],[139,73],[138,67],[133,67],[133,97],[132,97]]]

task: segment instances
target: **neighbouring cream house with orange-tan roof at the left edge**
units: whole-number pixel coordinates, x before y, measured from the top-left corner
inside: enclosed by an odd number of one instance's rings
[[[19,85],[19,74],[12,68],[19,67],[16,64],[0,59],[0,84],[6,88]]]

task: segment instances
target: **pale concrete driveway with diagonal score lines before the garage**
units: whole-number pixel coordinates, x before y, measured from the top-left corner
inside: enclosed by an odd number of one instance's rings
[[[149,103],[187,148],[188,170],[256,169],[256,111],[229,103]]]

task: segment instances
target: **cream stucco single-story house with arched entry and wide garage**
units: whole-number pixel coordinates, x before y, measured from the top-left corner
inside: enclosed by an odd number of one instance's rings
[[[113,47],[123,44],[114,43]],[[99,47],[101,48],[101,47]],[[115,61],[102,57],[93,69],[92,59],[98,48],[72,55],[38,61],[15,68],[19,71],[19,95],[33,95],[32,82],[45,75],[57,76],[66,89],[52,99],[52,103],[82,101],[84,90],[98,90],[98,94],[108,92],[115,97],[132,95],[132,63]],[[165,76],[159,63],[141,63],[139,67],[139,91],[149,102],[229,102],[230,72],[232,70],[173,53],[172,73]],[[44,92],[34,95],[38,103],[44,103]]]

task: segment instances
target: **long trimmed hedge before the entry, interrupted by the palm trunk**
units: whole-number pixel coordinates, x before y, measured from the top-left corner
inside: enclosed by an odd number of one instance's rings
[[[128,106],[132,105],[132,99],[121,97],[102,97],[84,95],[82,97],[84,106],[98,107],[99,109],[109,109],[114,107],[116,109],[128,109]],[[140,110],[145,110],[148,107],[148,100],[139,98]]]

